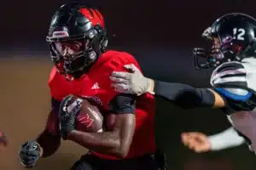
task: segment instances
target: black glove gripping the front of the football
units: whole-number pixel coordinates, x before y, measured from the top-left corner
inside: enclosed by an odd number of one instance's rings
[[[73,108],[71,109],[71,111],[69,111],[69,108],[72,107],[72,98],[73,95],[68,95],[61,101],[59,119],[62,139],[67,139],[68,133],[75,129],[76,116],[79,114],[81,108],[81,102],[79,100],[75,100],[73,102],[76,102],[76,104],[73,105]]]

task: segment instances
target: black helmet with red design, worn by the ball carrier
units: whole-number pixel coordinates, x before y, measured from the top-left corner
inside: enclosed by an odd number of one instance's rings
[[[108,45],[102,14],[81,3],[67,3],[52,17],[49,33],[51,59],[67,79],[86,73]]]

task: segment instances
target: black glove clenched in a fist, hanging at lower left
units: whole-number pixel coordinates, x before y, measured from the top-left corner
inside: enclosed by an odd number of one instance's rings
[[[35,167],[38,159],[41,156],[40,145],[35,140],[27,141],[25,144],[21,144],[19,155],[20,163],[24,167]]]

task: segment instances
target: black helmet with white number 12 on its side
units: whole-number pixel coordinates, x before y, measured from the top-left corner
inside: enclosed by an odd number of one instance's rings
[[[195,67],[215,68],[224,62],[252,57],[256,49],[255,35],[256,20],[253,17],[241,13],[224,14],[202,34],[212,41],[210,50],[193,49]]]

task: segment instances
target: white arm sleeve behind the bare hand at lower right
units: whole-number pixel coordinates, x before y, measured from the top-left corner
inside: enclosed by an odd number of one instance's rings
[[[234,127],[226,129],[224,132],[213,134],[208,137],[211,142],[212,150],[224,150],[226,148],[236,147],[245,143]]]

